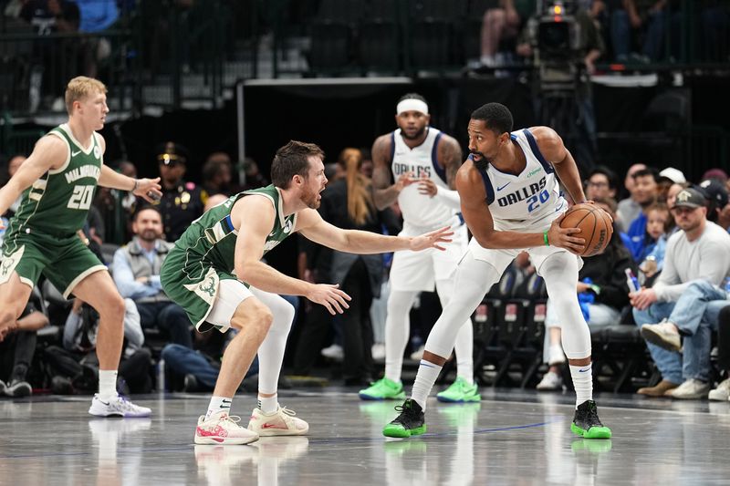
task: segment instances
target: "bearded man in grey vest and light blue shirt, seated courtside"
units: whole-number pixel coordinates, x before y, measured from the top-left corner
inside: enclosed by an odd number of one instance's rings
[[[158,327],[170,341],[193,347],[190,320],[183,307],[162,290],[160,268],[173,243],[162,239],[162,215],[154,206],[142,207],[132,222],[134,237],[114,253],[114,283],[120,295],[137,305],[142,328]]]

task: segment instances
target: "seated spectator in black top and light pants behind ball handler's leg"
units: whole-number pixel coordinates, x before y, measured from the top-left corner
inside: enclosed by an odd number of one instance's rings
[[[613,200],[596,200],[601,207],[616,205]],[[614,224],[615,226],[615,224]],[[603,253],[586,258],[580,269],[577,292],[580,309],[589,327],[610,326],[620,318],[621,309],[629,304],[629,288],[626,285],[627,268],[636,272],[631,254],[623,245],[618,231],[613,236]],[[560,366],[566,361],[563,348],[560,346],[561,328],[555,312],[555,306],[547,301],[545,317],[545,351],[543,357],[548,365],[547,373],[537,385],[538,390],[554,390],[563,386]]]

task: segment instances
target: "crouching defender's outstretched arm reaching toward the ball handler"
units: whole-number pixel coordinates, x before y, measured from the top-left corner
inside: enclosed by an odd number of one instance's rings
[[[454,234],[448,226],[413,237],[385,236],[360,230],[343,230],[324,221],[319,213],[314,210],[305,210],[299,213],[297,229],[308,240],[315,243],[340,252],[357,254],[396,252],[399,250],[418,252],[426,248],[443,250],[443,244],[450,243]]]

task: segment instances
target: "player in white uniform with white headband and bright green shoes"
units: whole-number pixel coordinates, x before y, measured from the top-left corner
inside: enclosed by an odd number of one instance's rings
[[[419,292],[433,291],[434,285],[442,306],[446,305],[454,294],[456,264],[466,251],[466,227],[457,215],[459,195],[454,191],[462,150],[453,137],[430,127],[429,120],[422,96],[412,93],[399,100],[395,115],[399,128],[382,135],[372,146],[375,205],[384,209],[398,201],[403,215],[401,235],[451,226],[454,241],[445,252],[402,251],[393,255],[385,320],[385,377],[360,390],[363,399],[405,398],[401,367],[410,334],[411,306]],[[474,384],[473,329],[468,315],[462,324],[455,341],[457,377],[451,387],[438,394],[442,401],[481,399]]]

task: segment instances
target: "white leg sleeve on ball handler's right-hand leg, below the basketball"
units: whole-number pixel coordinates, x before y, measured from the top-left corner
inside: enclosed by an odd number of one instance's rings
[[[550,305],[562,327],[563,350],[568,359],[590,356],[590,331],[578,305],[578,259],[568,252],[548,256],[540,266]]]

